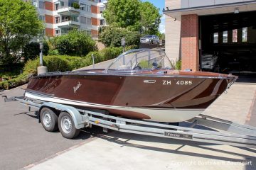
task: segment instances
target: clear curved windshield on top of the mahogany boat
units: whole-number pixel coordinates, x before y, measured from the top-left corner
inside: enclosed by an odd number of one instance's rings
[[[171,61],[162,50],[134,49],[119,55],[105,72],[113,70],[142,70],[169,68],[173,69]]]

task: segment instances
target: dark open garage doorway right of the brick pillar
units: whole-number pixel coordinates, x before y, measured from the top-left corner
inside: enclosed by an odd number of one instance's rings
[[[256,12],[199,16],[200,67],[206,71],[256,75]]]

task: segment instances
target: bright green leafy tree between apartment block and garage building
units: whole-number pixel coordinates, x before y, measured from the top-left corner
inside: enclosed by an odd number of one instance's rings
[[[109,0],[104,17],[110,26],[128,28],[142,34],[156,34],[161,22],[159,8],[140,0]]]

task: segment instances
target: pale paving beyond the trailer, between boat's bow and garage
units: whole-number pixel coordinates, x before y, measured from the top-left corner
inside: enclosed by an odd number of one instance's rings
[[[256,126],[256,121],[247,120],[248,116],[256,115],[255,98],[256,84],[233,84],[227,94],[222,94],[203,114],[225,118],[240,124]],[[253,114],[252,114],[253,113]]]

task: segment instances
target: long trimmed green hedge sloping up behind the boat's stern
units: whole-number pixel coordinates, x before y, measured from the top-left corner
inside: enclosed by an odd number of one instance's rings
[[[129,50],[132,47],[127,47]],[[67,72],[81,67],[86,67],[92,64],[92,54],[95,57],[95,63],[111,60],[122,53],[122,47],[107,47],[100,52],[90,52],[85,57],[73,57],[68,55],[51,55],[43,57],[43,65],[48,67],[48,72]],[[0,82],[0,89],[11,89],[16,86],[21,86],[28,82],[28,77],[37,74],[39,66],[39,58],[28,60],[23,68],[23,74],[20,74],[14,79]]]

